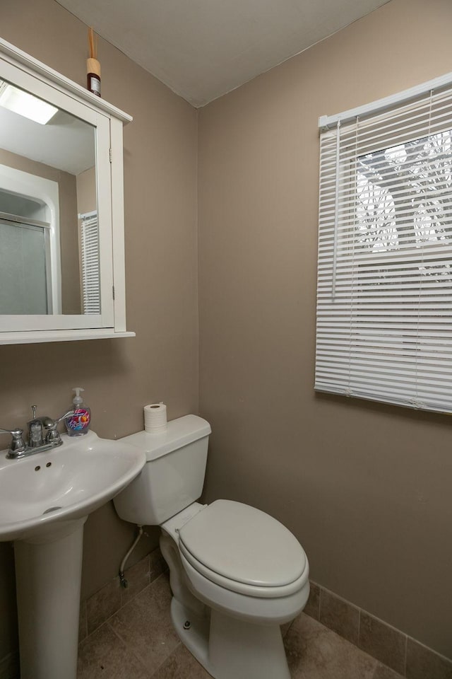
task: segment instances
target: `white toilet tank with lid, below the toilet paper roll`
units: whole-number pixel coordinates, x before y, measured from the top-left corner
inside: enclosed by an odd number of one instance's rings
[[[185,415],[160,434],[138,431],[121,439],[145,451],[146,463],[114,498],[118,515],[140,526],[160,526],[195,502],[203,490],[210,431],[205,419]]]

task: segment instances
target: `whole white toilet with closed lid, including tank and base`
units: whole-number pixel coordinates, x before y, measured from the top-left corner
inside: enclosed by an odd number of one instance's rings
[[[114,505],[125,521],[160,526],[179,639],[215,679],[290,679],[280,625],[309,596],[302,545],[275,518],[218,499],[200,504],[210,424],[196,415],[123,441],[146,453]]]

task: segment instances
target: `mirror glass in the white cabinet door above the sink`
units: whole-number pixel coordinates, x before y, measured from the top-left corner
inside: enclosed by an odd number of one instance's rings
[[[96,128],[0,80],[0,314],[99,314]]]

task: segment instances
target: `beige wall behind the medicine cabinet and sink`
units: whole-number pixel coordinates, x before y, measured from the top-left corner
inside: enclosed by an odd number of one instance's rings
[[[86,27],[54,0],[2,0],[0,35],[85,86]],[[40,414],[63,413],[75,385],[85,388],[94,431],[108,438],[141,429],[143,405],[155,400],[170,418],[198,410],[196,111],[107,42],[98,54],[102,95],[134,119],[124,129],[124,183],[127,319],[137,336],[0,347],[0,426],[25,425],[32,403]],[[85,595],[117,574],[132,539],[112,504],[88,518]],[[153,529],[135,558],[155,545]],[[1,658],[16,637],[8,543],[0,581]]]

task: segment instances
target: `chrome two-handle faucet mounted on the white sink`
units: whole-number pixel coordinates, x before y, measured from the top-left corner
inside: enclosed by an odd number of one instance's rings
[[[13,437],[6,453],[8,459],[18,460],[35,453],[43,453],[51,448],[61,446],[63,440],[59,434],[57,426],[61,420],[74,414],[73,410],[65,412],[57,419],[47,417],[36,417],[36,406],[32,405],[33,419],[28,422],[28,443],[23,439],[23,429],[0,429],[0,434],[11,434]]]

